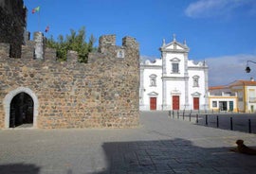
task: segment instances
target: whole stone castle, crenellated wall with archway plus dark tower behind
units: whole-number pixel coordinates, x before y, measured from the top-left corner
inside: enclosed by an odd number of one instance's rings
[[[19,19],[11,12],[19,10],[27,11],[22,0],[0,2],[1,20]],[[24,33],[25,26],[26,12],[15,27]],[[99,51],[84,64],[73,51],[67,61],[56,61],[55,50],[46,48],[40,32],[33,41],[20,32],[6,33],[11,36],[0,43],[0,128],[137,126],[139,50],[134,38],[124,37],[118,46],[115,35],[101,36]]]

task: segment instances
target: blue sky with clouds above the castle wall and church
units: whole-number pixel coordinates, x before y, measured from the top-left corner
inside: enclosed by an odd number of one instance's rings
[[[255,0],[24,1],[31,33],[49,26],[46,37],[57,37],[85,26],[88,37],[116,34],[118,44],[128,35],[151,60],[160,58],[162,40],[169,43],[175,34],[178,42],[187,41],[191,60],[208,62],[210,85],[256,78],[256,64],[245,73],[247,60],[256,61]],[[40,12],[32,14],[38,6]]]

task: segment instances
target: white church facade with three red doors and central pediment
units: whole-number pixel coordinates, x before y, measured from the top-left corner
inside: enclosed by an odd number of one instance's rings
[[[163,41],[161,59],[140,63],[140,111],[207,110],[208,66],[188,59],[186,42]]]

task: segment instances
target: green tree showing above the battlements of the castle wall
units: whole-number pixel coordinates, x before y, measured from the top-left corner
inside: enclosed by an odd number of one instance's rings
[[[66,61],[66,54],[68,50],[77,51],[80,62],[87,62],[89,53],[96,50],[93,46],[96,39],[93,35],[90,36],[88,43],[86,43],[85,27],[76,32],[74,29],[70,29],[70,35],[59,35],[57,41],[53,39],[53,36],[46,40],[46,46],[55,48],[57,50],[57,57],[59,61]]]

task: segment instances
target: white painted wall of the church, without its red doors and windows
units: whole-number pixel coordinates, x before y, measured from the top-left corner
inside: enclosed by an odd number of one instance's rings
[[[176,44],[174,46],[174,44]],[[175,48],[175,49],[174,49]],[[172,43],[163,44],[160,48],[161,59],[155,61],[145,61],[140,64],[140,110],[150,110],[150,96],[154,96],[157,99],[156,110],[173,110],[173,95],[180,96],[179,109],[191,110],[193,109],[193,96],[194,94],[200,94],[200,109],[207,109],[206,103],[206,74],[205,69],[208,68],[203,62],[194,63],[188,60],[187,45],[177,43],[175,40]],[[164,64],[164,62],[166,62]],[[173,73],[173,62],[179,63],[179,73]],[[187,64],[186,64],[187,63]],[[187,69],[186,69],[187,68]],[[166,74],[163,74],[166,69]],[[186,74],[187,72],[187,74]],[[156,86],[150,85],[150,76],[156,75]],[[193,87],[193,76],[199,77],[199,86]],[[186,80],[188,83],[186,86]],[[164,81],[166,83],[163,87]],[[208,87],[208,84],[207,84]],[[165,91],[163,91],[165,89]],[[189,106],[186,104],[186,89]],[[163,106],[163,100],[166,101],[166,105]]]

